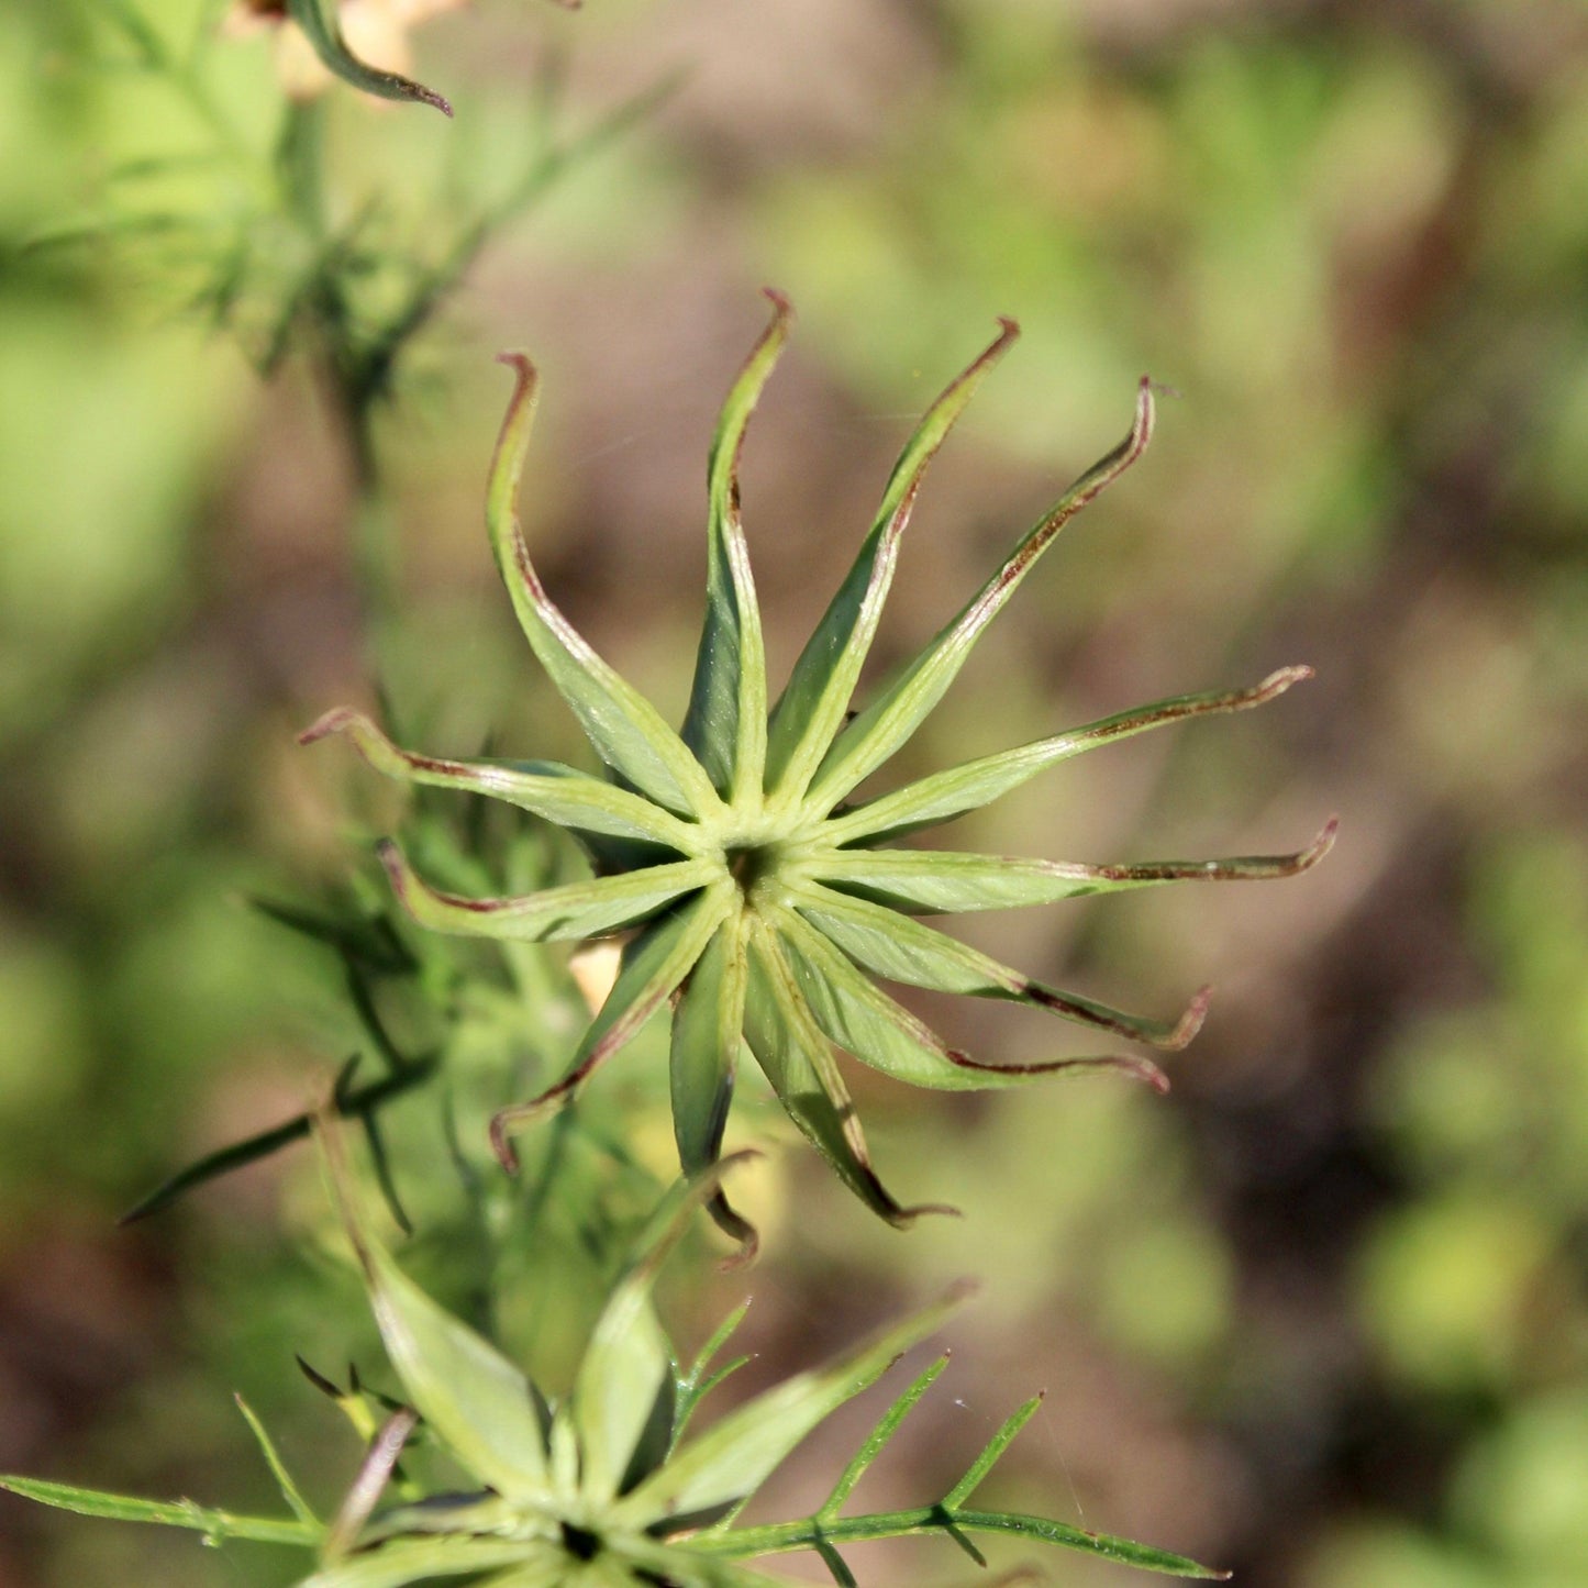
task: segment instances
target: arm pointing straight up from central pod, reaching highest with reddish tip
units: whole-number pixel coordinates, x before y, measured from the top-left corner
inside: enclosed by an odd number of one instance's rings
[[[767,297],[773,306],[772,324],[738,372],[711,438],[705,624],[683,726],[684,743],[724,799],[738,791],[761,792],[767,754],[767,657],[738,515],[738,454],[745,427],[783,353],[792,321],[788,299],[777,292]]]

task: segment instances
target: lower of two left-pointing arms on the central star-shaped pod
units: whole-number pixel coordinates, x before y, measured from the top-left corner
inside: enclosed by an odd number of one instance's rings
[[[465,899],[430,888],[391,840],[383,840],[376,853],[403,908],[419,926],[427,926],[432,932],[497,937],[515,943],[605,937],[656,915],[662,905],[702,888],[723,870],[708,859],[676,861],[616,877],[565,883],[519,899]]]

